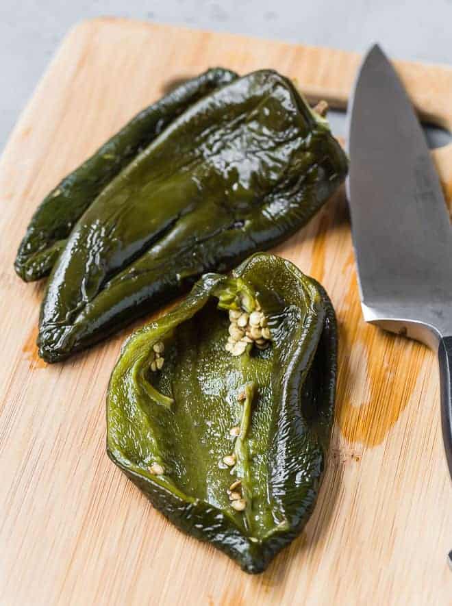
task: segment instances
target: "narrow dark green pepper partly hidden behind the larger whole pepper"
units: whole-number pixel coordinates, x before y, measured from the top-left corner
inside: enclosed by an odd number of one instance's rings
[[[110,181],[177,116],[237,75],[214,68],[149,105],[56,186],[34,214],[14,268],[26,282],[48,275],[75,223]]]

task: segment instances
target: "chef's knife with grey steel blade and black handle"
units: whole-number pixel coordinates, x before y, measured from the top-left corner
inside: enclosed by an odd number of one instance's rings
[[[377,45],[349,112],[347,194],[364,320],[438,351],[452,477],[452,228],[410,99]]]

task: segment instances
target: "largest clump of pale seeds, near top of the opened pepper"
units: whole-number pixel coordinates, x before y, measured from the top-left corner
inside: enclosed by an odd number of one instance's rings
[[[258,349],[266,349],[270,344],[271,332],[259,303],[251,314],[229,310],[229,320],[231,323],[225,349],[232,355],[242,355],[249,343],[254,343]]]

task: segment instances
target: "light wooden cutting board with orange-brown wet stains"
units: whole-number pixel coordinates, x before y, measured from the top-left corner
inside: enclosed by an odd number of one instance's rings
[[[436,355],[362,320],[343,192],[277,249],[331,295],[340,369],[316,511],[257,577],[177,531],[105,455],[105,390],[129,331],[47,366],[34,344],[44,284],[12,269],[40,199],[175,80],[208,66],[271,67],[343,107],[358,62],[112,18],[81,23],[64,40],[0,166],[1,605],[452,604]],[[452,69],[397,67],[420,111],[452,129]],[[434,157],[452,203],[452,145]]]

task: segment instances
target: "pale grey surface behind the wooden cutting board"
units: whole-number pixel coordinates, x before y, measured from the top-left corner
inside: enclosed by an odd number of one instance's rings
[[[452,0],[0,0],[0,150],[68,28],[101,15],[452,64]]]

